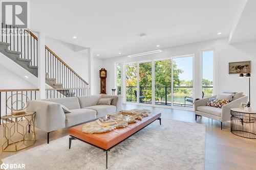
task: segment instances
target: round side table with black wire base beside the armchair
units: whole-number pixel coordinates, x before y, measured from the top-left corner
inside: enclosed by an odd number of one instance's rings
[[[230,114],[231,133],[245,138],[256,139],[256,111],[232,108]]]

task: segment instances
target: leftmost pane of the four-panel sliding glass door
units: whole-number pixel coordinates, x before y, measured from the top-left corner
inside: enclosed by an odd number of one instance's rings
[[[137,63],[126,64],[126,102],[137,102]]]

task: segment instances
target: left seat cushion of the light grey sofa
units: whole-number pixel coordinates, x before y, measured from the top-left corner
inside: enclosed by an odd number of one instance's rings
[[[96,119],[96,111],[91,109],[72,109],[66,113],[66,127]]]

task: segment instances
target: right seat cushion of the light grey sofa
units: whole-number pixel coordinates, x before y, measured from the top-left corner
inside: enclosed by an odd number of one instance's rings
[[[97,112],[97,117],[103,117],[107,114],[113,114],[116,112],[116,106],[113,106],[113,105],[96,105],[96,106],[86,107],[84,109],[95,110]]]

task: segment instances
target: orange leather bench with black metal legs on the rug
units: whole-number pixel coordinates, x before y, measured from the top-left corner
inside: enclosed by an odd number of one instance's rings
[[[161,113],[151,113],[149,116],[144,117],[142,120],[138,120],[137,123],[129,124],[125,128],[119,128],[105,133],[82,133],[82,126],[84,124],[72,127],[69,129],[69,135],[71,136],[69,138],[69,149],[71,148],[71,141],[73,139],[79,139],[99,149],[102,149],[106,152],[106,168],[108,168],[108,151],[124,139],[130,137],[155,120],[159,120],[161,125]]]

